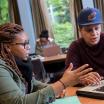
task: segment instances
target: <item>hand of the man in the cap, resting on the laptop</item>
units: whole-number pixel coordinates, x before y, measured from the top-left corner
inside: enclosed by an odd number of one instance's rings
[[[100,84],[102,77],[97,72],[90,72],[80,77],[80,83],[83,85]]]

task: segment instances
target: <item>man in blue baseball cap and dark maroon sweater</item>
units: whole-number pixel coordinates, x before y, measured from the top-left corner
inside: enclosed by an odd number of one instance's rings
[[[69,46],[66,58],[66,68],[73,63],[76,69],[89,64],[95,72],[80,79],[84,85],[99,84],[104,77],[104,33],[101,32],[102,16],[97,8],[85,8],[78,16],[81,38]]]

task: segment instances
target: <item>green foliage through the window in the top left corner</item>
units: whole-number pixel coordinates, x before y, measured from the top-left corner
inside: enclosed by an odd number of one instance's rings
[[[0,24],[10,21],[8,0],[0,0]]]

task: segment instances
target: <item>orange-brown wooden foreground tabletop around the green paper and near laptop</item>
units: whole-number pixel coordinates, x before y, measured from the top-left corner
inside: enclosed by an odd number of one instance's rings
[[[69,87],[66,89],[66,96],[74,96],[76,95],[77,87]],[[87,98],[87,97],[80,97],[78,96],[81,104],[104,104],[104,100]]]

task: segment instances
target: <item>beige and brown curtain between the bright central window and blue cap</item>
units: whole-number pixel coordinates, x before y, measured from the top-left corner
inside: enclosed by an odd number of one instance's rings
[[[74,27],[74,34],[76,38],[80,37],[80,33],[78,31],[78,25],[77,25],[77,17],[82,9],[82,2],[81,0],[69,0],[69,10],[72,20],[72,25]]]

